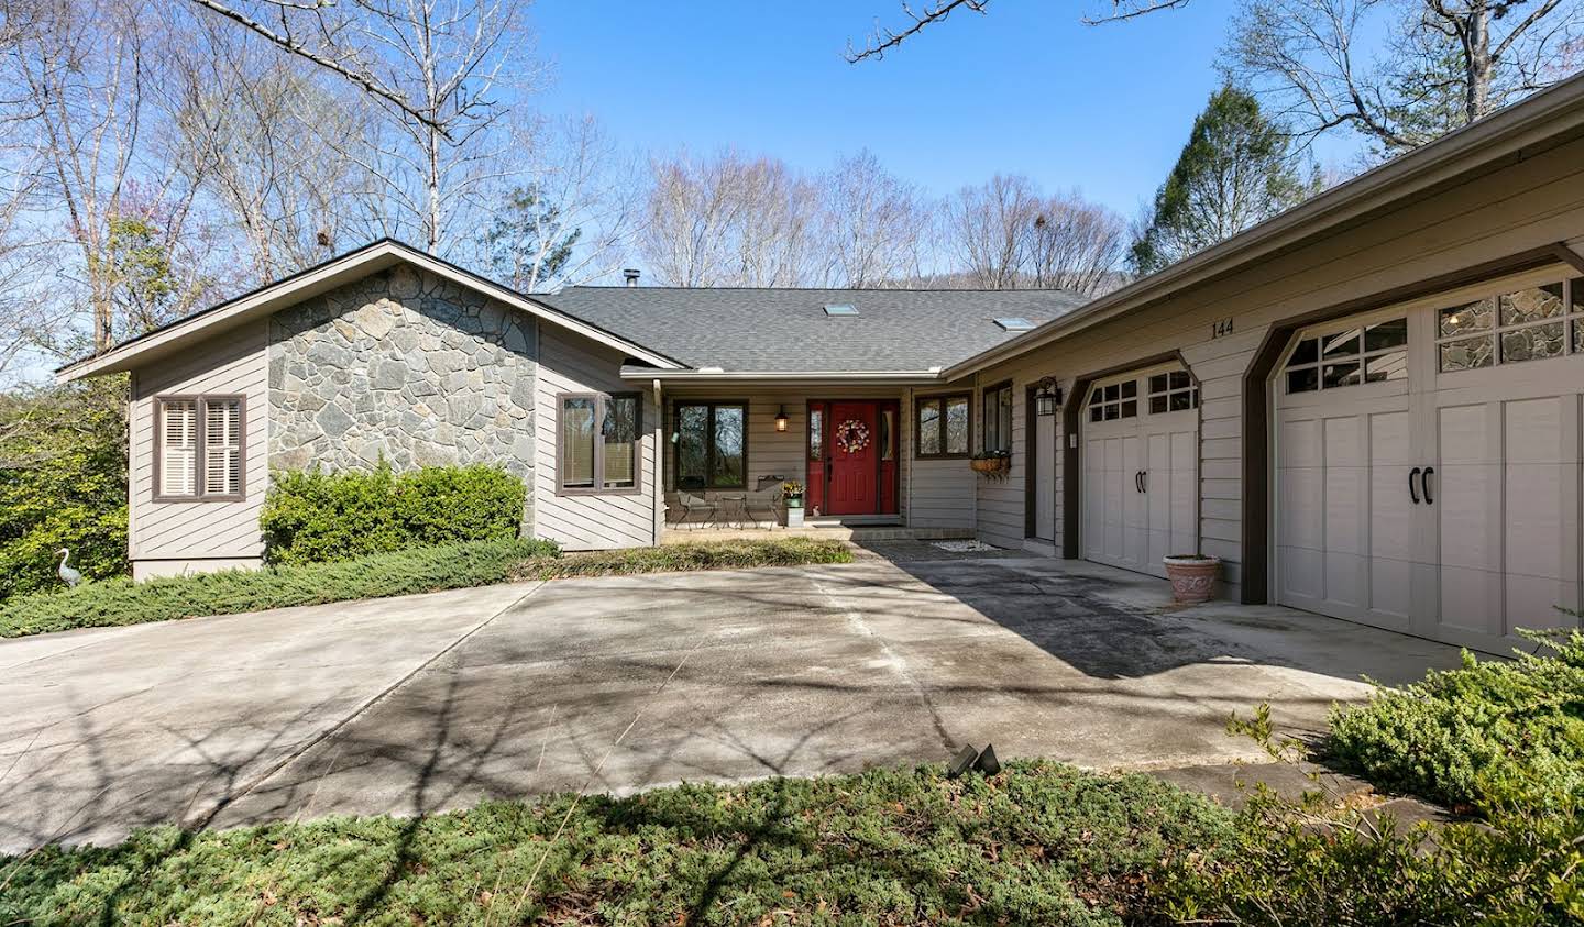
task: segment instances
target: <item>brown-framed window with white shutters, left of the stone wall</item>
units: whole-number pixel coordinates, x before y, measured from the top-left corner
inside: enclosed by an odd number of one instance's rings
[[[246,496],[242,396],[160,396],[154,402],[160,501]]]

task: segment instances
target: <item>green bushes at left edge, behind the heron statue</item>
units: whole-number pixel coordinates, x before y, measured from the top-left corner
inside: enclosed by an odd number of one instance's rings
[[[0,602],[127,572],[127,379],[0,396]]]

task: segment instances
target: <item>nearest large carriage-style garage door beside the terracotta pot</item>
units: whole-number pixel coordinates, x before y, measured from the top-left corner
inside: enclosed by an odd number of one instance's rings
[[[1274,383],[1277,599],[1505,653],[1579,605],[1584,282],[1300,331]]]

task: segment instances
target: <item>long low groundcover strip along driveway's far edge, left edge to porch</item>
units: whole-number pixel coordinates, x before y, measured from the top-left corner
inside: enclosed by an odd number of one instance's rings
[[[409,596],[510,580],[795,566],[847,563],[851,559],[852,553],[846,545],[806,537],[678,544],[569,555],[561,555],[559,548],[548,540],[474,540],[377,553],[336,563],[282,564],[253,570],[155,578],[141,583],[130,578],[84,583],[74,589],[40,593],[0,605],[0,637]]]

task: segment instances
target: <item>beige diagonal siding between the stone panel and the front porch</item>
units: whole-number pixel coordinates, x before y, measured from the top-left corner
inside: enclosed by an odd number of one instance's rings
[[[657,471],[654,396],[619,376],[624,357],[599,342],[542,325],[539,372],[534,388],[534,534],[567,550],[608,550],[656,544]],[[640,486],[637,494],[558,496],[556,434],[561,428],[561,393],[643,393],[640,437]]]

